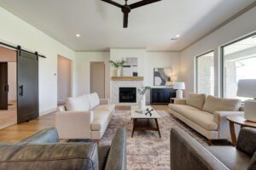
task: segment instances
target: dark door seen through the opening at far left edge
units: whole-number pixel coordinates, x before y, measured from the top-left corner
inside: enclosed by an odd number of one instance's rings
[[[8,110],[8,63],[0,63],[0,110]]]

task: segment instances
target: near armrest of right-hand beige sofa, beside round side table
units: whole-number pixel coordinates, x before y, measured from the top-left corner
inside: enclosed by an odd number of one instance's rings
[[[218,124],[218,139],[230,139],[230,122],[227,116],[243,116],[242,111],[216,111],[213,115],[213,121]],[[239,129],[236,127],[236,133]]]

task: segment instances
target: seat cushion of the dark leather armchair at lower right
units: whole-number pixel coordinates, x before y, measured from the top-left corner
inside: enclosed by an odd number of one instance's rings
[[[210,146],[207,147],[207,150],[230,169],[247,169],[250,162],[250,156],[236,150],[233,146]]]

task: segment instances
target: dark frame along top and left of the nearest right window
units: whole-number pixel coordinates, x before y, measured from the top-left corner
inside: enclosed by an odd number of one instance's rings
[[[253,31],[245,36],[238,37],[235,40],[232,40],[230,42],[224,43],[219,47],[220,49],[220,96],[224,98],[224,48],[227,46],[230,46],[231,44],[234,44],[236,42],[240,42],[248,37],[256,36],[256,31]]]

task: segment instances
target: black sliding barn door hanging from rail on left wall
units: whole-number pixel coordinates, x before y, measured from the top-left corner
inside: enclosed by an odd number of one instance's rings
[[[17,51],[18,123],[38,117],[38,55]]]

